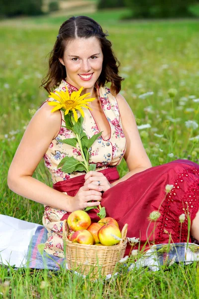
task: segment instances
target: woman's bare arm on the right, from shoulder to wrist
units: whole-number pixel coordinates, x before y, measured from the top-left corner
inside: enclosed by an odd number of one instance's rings
[[[152,166],[143,147],[131,108],[120,94],[116,96],[116,99],[119,106],[123,132],[126,138],[124,159],[126,160],[129,172],[119,180],[112,183],[112,186],[126,180],[133,174],[141,172]]]

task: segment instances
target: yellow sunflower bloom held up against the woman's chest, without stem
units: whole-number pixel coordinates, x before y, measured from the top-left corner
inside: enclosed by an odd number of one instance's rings
[[[58,102],[48,102],[48,105],[50,106],[55,106],[51,110],[51,112],[54,112],[59,109],[64,109],[65,110],[65,115],[69,113],[70,110],[73,112],[73,116],[75,121],[78,121],[78,115],[76,110],[79,110],[81,115],[84,117],[84,111],[82,108],[87,108],[92,110],[89,106],[88,103],[92,102],[95,100],[95,98],[91,99],[85,99],[87,96],[90,95],[90,93],[87,93],[83,96],[81,95],[81,92],[83,90],[83,87],[81,87],[78,91],[73,91],[71,96],[69,95],[68,90],[66,91],[56,91],[56,93],[51,92],[49,95],[49,98],[53,98]]]

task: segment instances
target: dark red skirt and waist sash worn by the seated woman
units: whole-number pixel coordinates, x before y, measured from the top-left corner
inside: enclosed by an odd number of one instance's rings
[[[116,167],[101,170],[111,183],[119,178]],[[75,196],[84,185],[85,175],[58,182],[56,190]],[[165,187],[173,188],[166,193]],[[179,216],[189,214],[191,221],[199,210],[199,165],[189,160],[175,160],[167,164],[151,167],[136,173],[123,182],[116,184],[102,195],[101,206],[106,216],[117,220],[119,228],[128,224],[127,237],[140,238],[140,248],[147,244],[187,242],[188,220],[181,224]],[[156,222],[149,219],[153,211],[161,216]],[[98,211],[90,210],[92,221],[99,220]],[[66,213],[61,220],[67,219]],[[191,241],[191,239],[189,240]],[[136,249],[138,244],[133,246]],[[126,254],[131,246],[128,245]]]

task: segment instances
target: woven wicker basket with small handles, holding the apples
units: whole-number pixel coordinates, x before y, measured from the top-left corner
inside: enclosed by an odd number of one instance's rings
[[[116,263],[123,258],[127,239],[127,226],[121,231],[121,241],[113,246],[96,246],[73,243],[68,240],[69,227],[67,220],[63,221],[63,240],[66,241],[66,259],[68,269],[75,270],[83,275],[90,275],[97,279],[112,274]]]

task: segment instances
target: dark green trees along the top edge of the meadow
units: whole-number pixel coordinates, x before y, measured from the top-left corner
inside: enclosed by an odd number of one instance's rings
[[[67,1],[67,0],[66,0]],[[93,0],[94,1],[94,0]],[[98,9],[127,7],[130,18],[170,18],[195,17],[190,6],[199,0],[95,0]],[[18,15],[40,15],[44,2],[48,2],[48,12],[59,10],[59,0],[0,0],[0,17]]]

